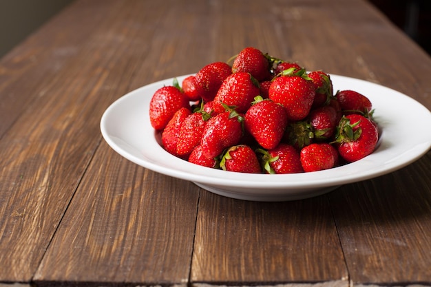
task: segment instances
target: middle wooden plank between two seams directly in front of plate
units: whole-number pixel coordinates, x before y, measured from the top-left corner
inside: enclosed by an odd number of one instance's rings
[[[246,202],[202,193],[193,284],[348,286],[348,273],[325,196]]]

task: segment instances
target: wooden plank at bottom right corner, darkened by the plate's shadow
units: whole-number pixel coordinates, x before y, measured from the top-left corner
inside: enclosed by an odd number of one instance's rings
[[[350,278],[358,284],[431,281],[431,152],[408,167],[330,193]]]

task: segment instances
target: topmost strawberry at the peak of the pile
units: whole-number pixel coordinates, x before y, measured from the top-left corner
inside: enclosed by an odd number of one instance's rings
[[[244,48],[232,64],[232,72],[250,73],[257,81],[271,78],[269,59],[255,47]]]

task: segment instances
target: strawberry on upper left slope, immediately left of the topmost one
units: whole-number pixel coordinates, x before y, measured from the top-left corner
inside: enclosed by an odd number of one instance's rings
[[[196,89],[205,102],[213,100],[220,85],[227,76],[232,74],[231,66],[223,62],[215,62],[202,67],[196,73]]]

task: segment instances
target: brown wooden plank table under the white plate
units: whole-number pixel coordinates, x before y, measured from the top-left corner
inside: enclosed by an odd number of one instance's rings
[[[365,0],[75,1],[0,62],[0,286],[431,286],[429,151],[326,195],[248,202],[103,140],[123,94],[246,46],[431,108],[430,56]]]

